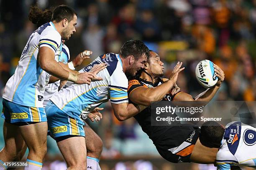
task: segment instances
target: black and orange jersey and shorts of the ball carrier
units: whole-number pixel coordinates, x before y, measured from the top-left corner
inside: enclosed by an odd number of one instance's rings
[[[128,82],[128,96],[138,87],[157,87],[164,83],[159,78],[156,83],[143,79],[133,79]],[[179,93],[179,92],[178,92]],[[178,94],[172,95],[168,92],[162,100],[172,101]],[[129,100],[131,102],[131,100]],[[147,107],[134,116],[143,132],[153,141],[159,154],[172,163],[190,162],[191,153],[200,135],[200,129],[193,125],[166,125],[151,126],[151,107]]]

